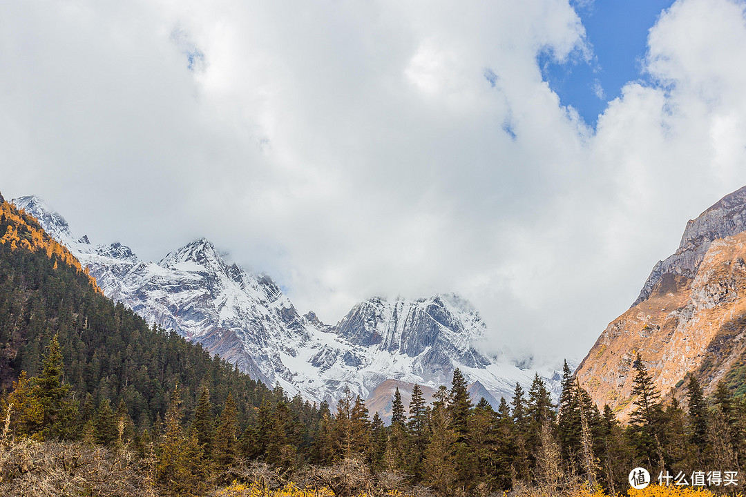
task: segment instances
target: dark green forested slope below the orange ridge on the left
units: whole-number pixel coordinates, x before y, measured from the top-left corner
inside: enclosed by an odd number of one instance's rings
[[[50,355],[54,336],[57,349]],[[276,395],[201,346],[148,326],[96,292],[88,276],[57,256],[10,250],[7,244],[0,244],[0,343],[7,344],[0,356],[4,387],[11,387],[21,370],[43,383],[48,437],[72,435],[65,418],[72,414],[73,395],[85,399],[90,393],[95,406],[103,398],[113,406],[125,399],[138,430],[163,419],[177,383],[189,417],[207,386],[216,405],[233,395],[241,424],[264,398]],[[318,411],[308,408],[308,422],[318,422]],[[77,433],[83,436],[82,429]]]

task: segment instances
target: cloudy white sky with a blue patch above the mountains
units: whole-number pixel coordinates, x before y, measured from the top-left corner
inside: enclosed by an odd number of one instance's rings
[[[144,259],[205,235],[330,323],[457,291],[580,359],[746,185],[745,62],[727,0],[4,1],[0,191]]]

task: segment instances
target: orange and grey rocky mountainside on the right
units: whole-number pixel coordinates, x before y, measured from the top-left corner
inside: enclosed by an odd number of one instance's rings
[[[746,232],[729,233],[745,229],[745,212],[740,189],[689,221],[680,249],[656,265],[657,276],[653,270],[645,300],[604,330],[577,369],[598,405],[608,403],[626,419],[637,352],[664,395],[681,396],[687,373],[709,393],[743,361]]]

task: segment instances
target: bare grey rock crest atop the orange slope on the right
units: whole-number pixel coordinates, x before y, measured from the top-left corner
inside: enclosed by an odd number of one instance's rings
[[[650,297],[651,291],[666,273],[693,278],[713,240],[736,235],[745,229],[746,186],[721,198],[697,219],[686,223],[679,248],[668,259],[655,265],[633,306]]]

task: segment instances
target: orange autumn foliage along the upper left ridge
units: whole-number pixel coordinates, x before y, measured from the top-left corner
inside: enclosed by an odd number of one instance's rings
[[[10,202],[0,203],[0,215],[4,215],[9,221],[4,234],[0,233],[2,235],[0,244],[9,244],[10,250],[19,248],[31,252],[43,250],[47,257],[57,256],[57,260],[60,262],[75,268],[80,273],[85,273],[95,291],[98,291],[99,294],[104,293],[96,285],[95,278],[88,274],[88,270],[81,267],[78,259],[75,259],[75,256],[66,247],[51,238],[31,215],[26,214],[23,209],[16,209]],[[57,262],[54,263],[54,267],[57,268]]]

